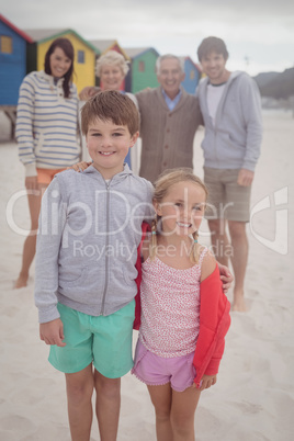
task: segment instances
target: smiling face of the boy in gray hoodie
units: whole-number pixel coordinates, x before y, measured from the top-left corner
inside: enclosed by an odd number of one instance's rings
[[[93,166],[104,179],[123,171],[128,148],[134,146],[138,135],[137,132],[132,136],[126,125],[116,125],[109,120],[97,118],[89,124],[87,147]]]

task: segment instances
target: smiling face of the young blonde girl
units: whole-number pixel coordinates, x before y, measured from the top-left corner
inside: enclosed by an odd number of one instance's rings
[[[161,217],[161,234],[186,236],[201,225],[206,204],[206,193],[192,181],[182,181],[170,186],[162,201],[155,202],[155,210]]]

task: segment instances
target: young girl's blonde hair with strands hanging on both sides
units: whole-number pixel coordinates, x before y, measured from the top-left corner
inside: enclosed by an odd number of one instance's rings
[[[166,197],[171,185],[180,183],[180,182],[193,182],[196,185],[201,186],[205,193],[205,201],[207,200],[208,191],[206,185],[202,182],[202,180],[193,173],[192,169],[189,168],[180,168],[174,170],[166,170],[158,180],[155,182],[155,192],[154,192],[154,203],[160,204],[162,200]],[[149,257],[150,260],[154,260],[156,257],[157,250],[157,235],[160,234],[158,231],[158,223],[160,220],[160,216],[156,214],[155,219],[151,225],[151,241],[150,241],[150,250]],[[190,252],[190,260],[193,263],[199,262],[200,257],[200,247],[197,246],[199,231],[193,233],[193,244]]]

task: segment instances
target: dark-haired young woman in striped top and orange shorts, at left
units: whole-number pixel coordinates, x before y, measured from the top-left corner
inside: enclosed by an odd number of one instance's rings
[[[20,88],[16,140],[25,167],[31,233],[15,287],[26,286],[35,256],[41,199],[54,174],[80,158],[78,95],[72,84],[74,47],[57,38],[45,55],[44,70],[29,74]]]

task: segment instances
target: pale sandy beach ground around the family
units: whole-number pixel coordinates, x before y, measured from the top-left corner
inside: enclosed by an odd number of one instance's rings
[[[217,384],[202,394],[196,411],[197,441],[293,439],[294,118],[263,111],[263,123],[248,225],[248,312],[231,313]],[[23,166],[1,118],[0,132],[0,441],[69,441],[64,375],[47,362],[48,347],[38,338],[34,269],[25,289],[12,289],[30,216]],[[199,131],[194,142],[200,177],[202,136]],[[201,240],[210,244],[205,223]],[[91,440],[99,440],[95,421]],[[122,380],[117,440],[156,440],[147,388],[131,374]]]

